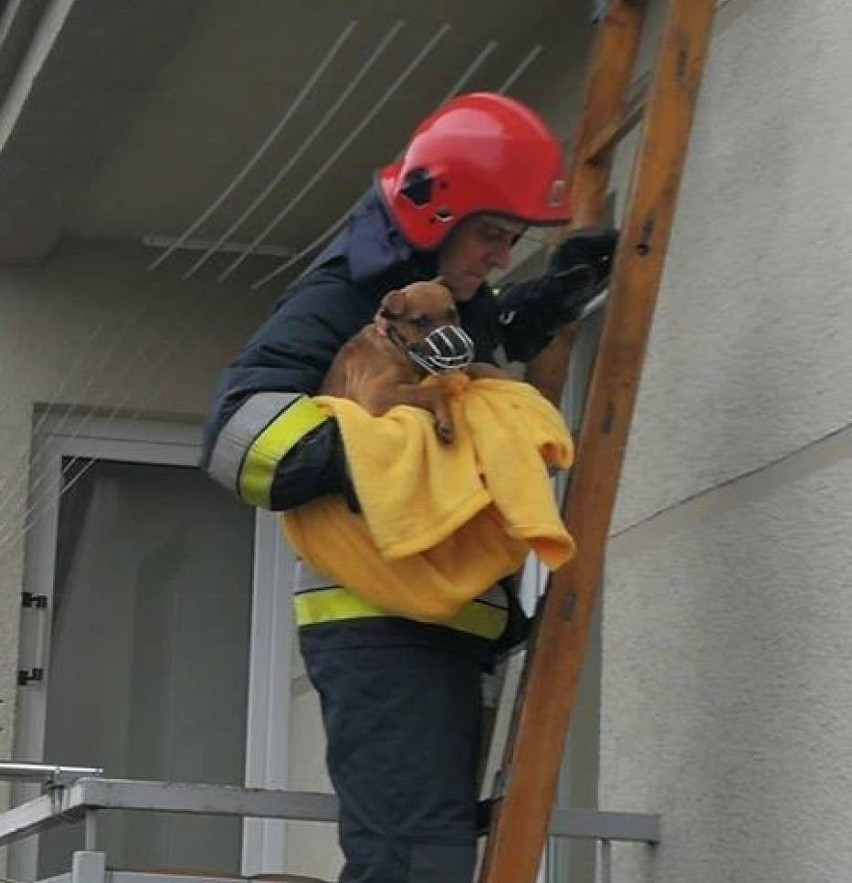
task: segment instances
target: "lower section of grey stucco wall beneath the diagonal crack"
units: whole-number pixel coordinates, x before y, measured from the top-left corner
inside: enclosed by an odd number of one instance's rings
[[[852,876],[850,518],[847,432],[613,542],[601,799],[663,817],[616,879]]]

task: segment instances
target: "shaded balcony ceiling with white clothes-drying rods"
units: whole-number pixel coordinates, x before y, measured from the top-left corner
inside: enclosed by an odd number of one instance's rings
[[[41,262],[62,239],[188,233],[299,252],[460,81],[514,75],[509,92],[535,104],[565,67],[569,13],[593,5],[7,0],[0,262]],[[203,253],[169,261],[183,272]]]

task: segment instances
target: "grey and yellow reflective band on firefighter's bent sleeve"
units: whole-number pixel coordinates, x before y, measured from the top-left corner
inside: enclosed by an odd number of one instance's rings
[[[210,475],[252,506],[269,508],[282,457],[326,415],[300,393],[256,393],[219,431]]]

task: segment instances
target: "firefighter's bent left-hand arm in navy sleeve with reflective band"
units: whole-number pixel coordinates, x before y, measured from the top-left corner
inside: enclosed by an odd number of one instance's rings
[[[350,495],[337,422],[314,403],[336,352],[357,330],[339,286],[285,300],[222,375],[202,467],[252,506],[283,511]]]

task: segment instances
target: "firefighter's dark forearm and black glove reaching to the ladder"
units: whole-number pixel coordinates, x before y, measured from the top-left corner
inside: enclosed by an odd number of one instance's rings
[[[603,303],[617,242],[618,232],[610,228],[578,230],[559,244],[543,276],[517,282],[498,295],[498,322],[509,359],[529,361],[560,328]]]

